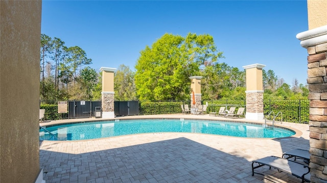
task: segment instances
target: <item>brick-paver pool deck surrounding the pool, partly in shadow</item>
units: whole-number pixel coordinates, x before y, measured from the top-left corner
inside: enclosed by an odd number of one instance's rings
[[[151,115],[124,118],[221,119],[209,115]],[[77,121],[95,119],[79,119]],[[236,119],[245,121],[245,119]],[[58,120],[40,125],[72,122]],[[257,121],[256,121],[257,122]],[[261,121],[263,122],[263,121]],[[157,133],[85,141],[40,141],[46,182],[300,182],[299,178],[253,160],[309,149],[309,126],[283,122],[297,137],[247,139],[190,133]]]

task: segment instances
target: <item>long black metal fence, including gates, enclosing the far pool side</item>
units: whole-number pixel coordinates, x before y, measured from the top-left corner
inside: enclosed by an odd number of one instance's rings
[[[188,104],[186,101],[114,101],[115,116],[130,115],[151,115],[151,114],[176,114],[181,113],[181,104]],[[245,100],[203,100],[202,104],[208,104],[207,113],[215,112],[220,107],[246,107]],[[40,109],[45,109],[45,120],[47,119],[69,119],[95,117],[96,107],[101,107],[101,101],[68,101],[67,113],[58,114],[56,101],[40,101]],[[264,100],[264,114],[270,111],[274,114],[283,113],[283,121],[288,122],[309,122],[309,100]],[[276,120],[281,120],[277,116]]]

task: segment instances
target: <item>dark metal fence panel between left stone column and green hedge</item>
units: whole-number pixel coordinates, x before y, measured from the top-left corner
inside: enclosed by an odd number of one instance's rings
[[[138,101],[114,101],[115,116],[138,115]]]

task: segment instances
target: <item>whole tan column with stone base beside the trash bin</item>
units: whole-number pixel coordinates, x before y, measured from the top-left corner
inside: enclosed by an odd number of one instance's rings
[[[115,68],[101,67],[102,72],[102,118],[114,118],[113,78]]]

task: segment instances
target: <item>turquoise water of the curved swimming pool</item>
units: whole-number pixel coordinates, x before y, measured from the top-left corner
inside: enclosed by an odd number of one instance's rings
[[[295,134],[293,130],[262,125],[201,120],[121,120],[64,124],[40,129],[40,140],[86,140],[144,133],[200,133],[246,138],[281,138]]]

